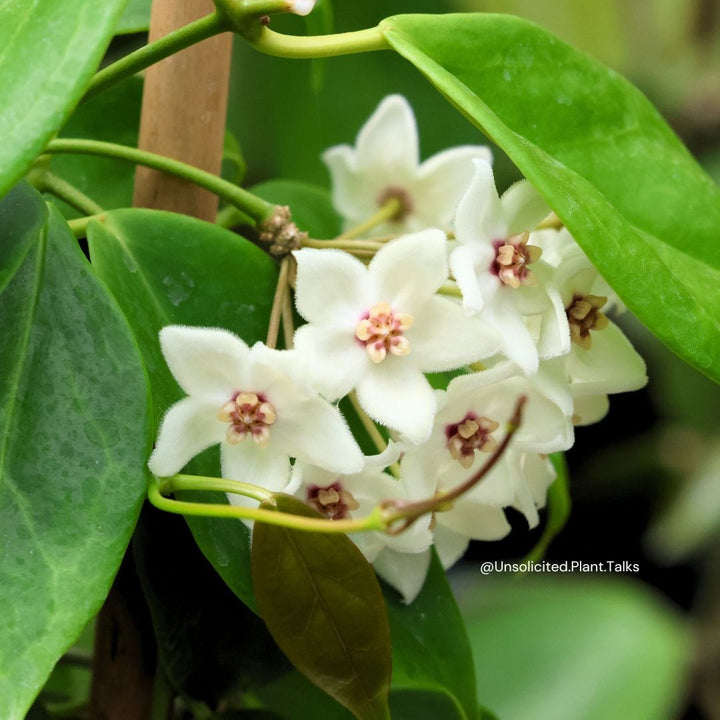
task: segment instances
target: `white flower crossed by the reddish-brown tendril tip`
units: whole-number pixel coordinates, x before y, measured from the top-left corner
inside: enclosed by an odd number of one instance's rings
[[[497,540],[510,531],[504,508],[520,510],[533,527],[537,508],[555,477],[540,454],[568,449],[573,428],[564,410],[510,363],[456,377],[438,391],[439,408],[428,441],[402,460],[408,486],[449,492],[477,472],[502,441],[521,395],[527,398],[522,423],[488,474],[452,507],[437,512],[436,543],[447,566],[470,539]]]

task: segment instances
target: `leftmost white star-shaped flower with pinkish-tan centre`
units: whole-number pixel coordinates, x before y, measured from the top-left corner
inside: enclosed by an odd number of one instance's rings
[[[218,443],[224,477],[273,491],[287,485],[290,457],[335,472],[362,468],[342,415],[308,386],[294,352],[178,325],[160,331],[160,345],[188,397],[163,418],[148,462],[155,475],[174,475]]]

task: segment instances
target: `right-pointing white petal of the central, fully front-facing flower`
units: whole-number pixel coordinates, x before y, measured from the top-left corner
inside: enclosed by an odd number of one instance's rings
[[[453,370],[500,349],[500,336],[494,328],[443,297],[430,298],[406,335],[424,372]]]

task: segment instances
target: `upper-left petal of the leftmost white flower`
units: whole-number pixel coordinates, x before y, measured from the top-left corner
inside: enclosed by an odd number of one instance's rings
[[[160,347],[188,395],[208,396],[222,403],[242,383],[249,348],[227,330],[169,325],[160,331]]]

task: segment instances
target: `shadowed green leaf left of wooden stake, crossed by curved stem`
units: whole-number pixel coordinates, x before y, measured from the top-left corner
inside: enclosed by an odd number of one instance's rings
[[[86,100],[60,131],[60,137],[104,140],[135,147],[142,86],[141,78],[131,77]],[[52,155],[50,169],[105,210],[132,205],[135,181],[132,163],[92,155]],[[65,205],[62,209],[66,217],[79,214]]]

